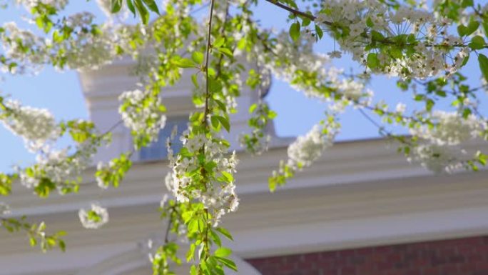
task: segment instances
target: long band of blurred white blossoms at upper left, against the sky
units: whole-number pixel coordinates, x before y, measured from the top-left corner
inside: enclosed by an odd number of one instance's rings
[[[63,18],[54,40],[20,29],[15,22],[5,23],[0,41],[4,56],[16,61],[16,67],[4,65],[0,70],[37,73],[49,63],[56,69],[98,69],[116,59],[118,51],[137,53],[130,41],[134,35],[143,34],[143,29],[113,24],[96,26],[94,18],[86,11]]]

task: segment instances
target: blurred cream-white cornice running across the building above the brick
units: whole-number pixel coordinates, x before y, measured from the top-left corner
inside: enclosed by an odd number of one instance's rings
[[[408,164],[381,139],[350,141],[336,144],[270,194],[270,171],[285,157],[284,146],[263,156],[239,154],[236,182],[241,205],[224,219],[236,240],[229,245],[238,256],[488,234],[488,171],[434,176]],[[47,221],[50,228],[68,231],[68,251],[134,244],[163,229],[156,209],[167,171],[165,161],[139,163],[119,189],[101,191],[92,182],[83,184],[80,194],[48,200],[16,186],[6,202],[14,214],[29,214]],[[86,171],[90,174],[93,169]],[[87,231],[78,223],[76,211],[93,199],[108,206],[111,222],[101,230]],[[0,264],[6,254],[21,257],[28,251],[24,236],[2,232],[0,238]]]

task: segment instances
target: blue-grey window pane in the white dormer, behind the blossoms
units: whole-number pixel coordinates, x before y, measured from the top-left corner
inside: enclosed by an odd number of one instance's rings
[[[168,149],[166,149],[166,139],[168,136],[171,136],[171,131],[175,126],[178,126],[178,133],[176,134],[175,139],[171,144],[171,149],[176,154],[181,149],[181,141],[180,136],[185,131],[188,126],[188,118],[185,117],[173,117],[169,118],[166,121],[166,126],[164,126],[161,131],[159,131],[158,141],[153,142],[151,145],[147,147],[143,147],[139,152],[139,160],[141,161],[153,161],[159,159],[167,159],[168,158]]]

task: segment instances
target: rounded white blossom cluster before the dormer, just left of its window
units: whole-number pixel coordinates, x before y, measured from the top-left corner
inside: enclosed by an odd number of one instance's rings
[[[119,113],[123,123],[131,129],[135,139],[141,140],[136,147],[146,146],[158,140],[158,134],[166,125],[166,108],[158,94],[151,91],[124,91],[119,100],[122,101]]]

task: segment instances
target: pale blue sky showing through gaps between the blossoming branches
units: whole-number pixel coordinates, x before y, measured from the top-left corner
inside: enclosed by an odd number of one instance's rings
[[[88,10],[103,16],[94,1],[71,1],[68,12]],[[6,21],[18,21],[19,16],[25,14],[21,8],[15,11],[0,10],[0,24]],[[275,6],[263,1],[255,11],[260,23],[265,27],[275,29],[287,28],[288,13],[276,9]],[[273,14],[273,16],[269,16]],[[103,17],[102,17],[103,18]],[[327,52],[332,49],[332,41],[325,39],[317,44],[317,51]],[[336,66],[350,68],[352,61],[345,56],[336,60]],[[475,60],[470,60],[468,71],[473,76],[474,84],[479,83],[479,70]],[[396,88],[395,79],[375,77],[370,85],[375,91],[376,99],[385,99],[395,106],[398,101],[412,104],[411,95],[402,93]],[[88,118],[86,104],[81,94],[78,75],[74,71],[58,72],[54,69],[44,69],[37,76],[5,76],[0,81],[0,91],[11,94],[24,104],[47,108],[57,119]],[[325,104],[316,99],[308,99],[298,91],[290,89],[283,81],[273,81],[273,86],[266,100],[270,107],[278,112],[275,127],[279,136],[297,136],[305,134],[310,127],[323,118]],[[378,136],[377,129],[372,126],[358,111],[348,109],[341,117],[342,132],[338,140],[367,139]],[[34,156],[24,149],[24,143],[9,131],[0,127],[0,148],[3,156],[0,158],[0,171],[8,171],[12,164],[29,164]]]

